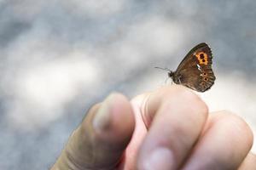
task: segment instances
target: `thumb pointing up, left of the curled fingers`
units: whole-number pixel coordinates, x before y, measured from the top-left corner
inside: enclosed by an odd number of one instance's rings
[[[134,127],[129,100],[122,94],[110,94],[101,105],[90,109],[52,169],[113,169]]]

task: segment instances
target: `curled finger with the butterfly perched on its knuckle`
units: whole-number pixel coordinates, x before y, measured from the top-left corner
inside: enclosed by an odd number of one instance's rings
[[[177,169],[201,134],[207,105],[188,88],[172,86],[151,94],[145,107],[143,118],[149,131],[138,156],[138,169]],[[154,152],[157,149],[160,152]]]

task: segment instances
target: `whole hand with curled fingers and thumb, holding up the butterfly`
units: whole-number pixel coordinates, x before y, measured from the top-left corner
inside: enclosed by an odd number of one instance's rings
[[[253,170],[253,133],[229,111],[209,114],[178,85],[90,108],[51,170]]]

